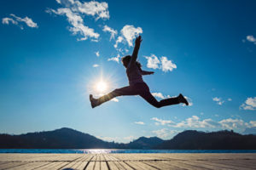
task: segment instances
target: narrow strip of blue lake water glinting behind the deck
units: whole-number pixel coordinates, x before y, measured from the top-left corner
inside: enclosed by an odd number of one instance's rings
[[[48,149],[0,149],[0,153],[70,153],[70,154],[101,154],[101,153],[256,153],[256,150],[48,150]]]

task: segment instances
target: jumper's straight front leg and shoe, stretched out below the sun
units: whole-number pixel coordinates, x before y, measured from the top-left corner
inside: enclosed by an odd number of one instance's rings
[[[92,96],[90,96],[90,102],[91,102],[91,106],[94,108],[97,105],[102,105],[102,103],[105,103],[105,102],[109,101],[110,99],[113,99],[118,96],[137,95],[137,94],[138,94],[138,92],[135,88],[133,88],[131,86],[127,86],[124,88],[117,88],[117,89],[113,90],[111,93],[103,95],[99,99],[93,99]]]

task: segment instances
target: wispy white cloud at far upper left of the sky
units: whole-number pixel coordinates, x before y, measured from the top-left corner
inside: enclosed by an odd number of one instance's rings
[[[6,25],[9,25],[9,23],[12,23],[14,25],[19,25],[19,23],[24,22],[26,24],[26,26],[29,26],[32,28],[38,28],[38,24],[35,23],[34,21],[32,21],[32,19],[28,18],[27,16],[24,18],[20,18],[20,17],[16,16],[15,14],[10,14],[10,16],[12,16],[13,19],[12,18],[3,18],[2,23],[6,24]],[[23,26],[22,25],[19,25],[19,26],[22,30]]]

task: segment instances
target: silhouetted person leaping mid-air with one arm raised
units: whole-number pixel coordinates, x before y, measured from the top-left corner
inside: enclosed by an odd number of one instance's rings
[[[141,68],[142,65],[137,61],[137,54],[142,41],[143,40],[141,36],[137,37],[132,55],[126,55],[122,58],[122,63],[126,68],[126,75],[130,85],[124,88],[117,88],[111,93],[103,95],[99,99],[93,98],[92,94],[90,94],[90,104],[92,108],[95,108],[98,105],[102,105],[102,103],[115,97],[125,95],[140,95],[143,99],[148,101],[150,105],[154,105],[156,108],[160,108],[166,105],[177,105],[180,103],[189,105],[189,102],[183,97],[183,94],[179,94],[174,98],[162,99],[158,101],[150,93],[148,85],[143,81],[143,76],[154,74],[154,72],[143,71]]]

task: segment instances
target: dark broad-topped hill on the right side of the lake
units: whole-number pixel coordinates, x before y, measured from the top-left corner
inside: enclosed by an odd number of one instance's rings
[[[241,135],[233,131],[204,133],[193,130],[178,133],[154,149],[165,150],[256,150],[256,135]]]

